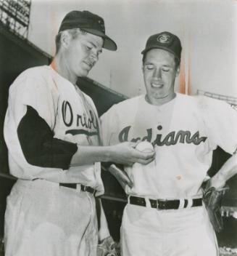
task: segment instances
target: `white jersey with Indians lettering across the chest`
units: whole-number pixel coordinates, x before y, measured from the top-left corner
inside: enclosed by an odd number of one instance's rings
[[[237,147],[237,113],[227,103],[176,94],[164,105],[151,105],[144,95],[114,105],[101,117],[104,145],[147,140],[156,158],[148,165],[126,167],[133,188],[128,195],[154,199],[199,196],[212,164],[212,151]]]

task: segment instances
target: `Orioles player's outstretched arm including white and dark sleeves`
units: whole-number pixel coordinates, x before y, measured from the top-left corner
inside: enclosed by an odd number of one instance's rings
[[[136,151],[136,143],[121,143],[104,148],[77,145],[54,137],[55,99],[42,79],[21,81],[12,90],[11,99],[10,113],[28,164],[69,169],[70,165],[81,166],[96,161],[131,165],[136,161],[146,164],[153,160],[154,153]]]

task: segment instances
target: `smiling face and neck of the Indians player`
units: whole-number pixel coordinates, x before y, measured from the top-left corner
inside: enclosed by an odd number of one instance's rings
[[[162,105],[175,97],[175,77],[179,68],[175,56],[164,49],[151,49],[144,58],[144,83],[146,100],[153,105]]]

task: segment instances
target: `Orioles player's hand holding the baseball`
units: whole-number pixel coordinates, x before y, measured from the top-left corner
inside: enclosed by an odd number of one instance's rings
[[[155,152],[141,152],[136,150],[138,143],[125,142],[111,147],[112,162],[132,166],[134,163],[149,164],[154,160]]]

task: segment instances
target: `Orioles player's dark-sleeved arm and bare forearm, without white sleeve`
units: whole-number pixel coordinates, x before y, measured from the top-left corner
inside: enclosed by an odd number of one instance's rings
[[[96,161],[148,164],[154,158],[154,153],[137,151],[136,143],[102,147],[59,140],[54,137],[46,121],[30,106],[17,127],[17,134],[25,159],[29,164],[41,167],[68,169],[70,166],[93,164]]]

